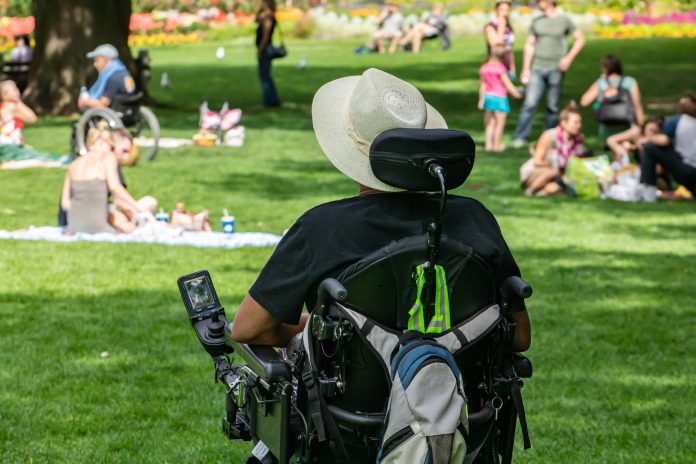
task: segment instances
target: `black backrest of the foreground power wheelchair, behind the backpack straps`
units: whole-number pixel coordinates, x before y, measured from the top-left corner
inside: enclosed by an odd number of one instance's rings
[[[452,326],[496,303],[497,288],[489,266],[463,243],[442,238],[438,264],[447,275]],[[348,267],[338,280],[348,290],[346,306],[395,332],[406,330],[416,298],[413,278],[426,256],[426,237],[393,242]],[[321,343],[321,342],[319,342]],[[318,348],[318,349],[317,349]],[[341,358],[328,356],[334,347],[315,347],[319,370],[344,369],[347,388],[328,400],[348,411],[384,412],[389,396],[388,373],[377,354],[360,337],[343,346]],[[338,350],[338,347],[335,347]]]

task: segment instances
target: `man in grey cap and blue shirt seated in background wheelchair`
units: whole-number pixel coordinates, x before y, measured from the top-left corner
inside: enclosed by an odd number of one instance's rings
[[[118,50],[110,44],[99,45],[87,54],[99,72],[88,95],[80,95],[77,106],[82,109],[111,107],[119,96],[135,93],[135,80],[126,65],[118,59]]]

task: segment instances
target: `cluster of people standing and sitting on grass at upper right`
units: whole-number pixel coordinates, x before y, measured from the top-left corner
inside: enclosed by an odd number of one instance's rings
[[[520,169],[520,181],[527,195],[545,196],[567,191],[565,170],[572,157],[588,155],[582,134],[582,116],[571,102],[560,110],[565,73],[585,44],[581,31],[556,9],[554,0],[537,0],[543,13],[532,21],[524,46],[520,81],[515,87],[515,35],[510,24],[511,2],[496,3],[496,16],[485,26],[488,58],[479,70],[479,109],[484,111],[486,151],[505,150],[502,138],[510,112],[508,94],[524,102],[515,129],[513,146],[528,143],[536,108],[544,93],[545,130],[532,145],[531,159]],[[573,39],[568,48],[568,39]],[[593,106],[599,121],[599,136],[613,152],[612,168],[619,171],[631,162],[634,153],[641,166],[640,198],[654,201],[656,182],[662,178],[669,189],[675,180],[696,193],[696,111],[694,96],[685,94],[679,103],[680,115],[663,124],[659,117],[645,117],[637,80],[623,74],[621,60],[607,54],[601,76],[580,98],[582,106]]]

